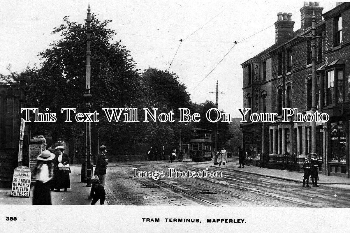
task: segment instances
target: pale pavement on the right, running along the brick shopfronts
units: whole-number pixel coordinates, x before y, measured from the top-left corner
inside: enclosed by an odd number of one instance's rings
[[[295,171],[286,171],[286,170],[278,170],[278,169],[269,169],[269,168],[260,168],[253,166],[245,166],[244,168],[238,168],[238,158],[229,159],[229,162],[225,165],[222,165],[220,168],[228,171],[238,171],[238,172],[246,172],[254,175],[273,177],[278,179],[284,179],[287,181],[294,182],[303,182],[303,173],[295,172]],[[218,168],[218,165],[211,165],[210,167]],[[338,176],[327,176],[321,173],[318,173],[319,180],[318,184],[329,184],[329,185],[349,185],[350,179]],[[311,181],[311,178],[310,178]],[[350,188],[350,187],[349,187]]]

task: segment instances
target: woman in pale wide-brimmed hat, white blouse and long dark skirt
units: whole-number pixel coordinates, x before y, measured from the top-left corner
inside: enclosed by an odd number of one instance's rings
[[[44,150],[37,157],[37,163],[33,170],[35,186],[33,191],[33,205],[51,205],[50,180],[54,177],[54,164],[52,160],[55,154]]]

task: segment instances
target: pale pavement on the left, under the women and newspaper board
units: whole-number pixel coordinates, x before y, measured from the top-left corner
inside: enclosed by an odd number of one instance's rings
[[[81,167],[71,165],[70,168],[72,171],[70,174],[71,188],[66,192],[63,190],[61,192],[51,191],[52,205],[90,205],[91,187],[86,187],[86,183],[80,182]],[[31,187],[29,198],[10,197],[10,189],[0,189],[0,205],[31,205],[33,202],[33,188],[34,186]]]

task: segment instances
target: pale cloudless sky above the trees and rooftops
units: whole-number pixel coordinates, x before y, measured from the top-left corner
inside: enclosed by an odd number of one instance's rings
[[[12,66],[12,71],[21,72],[28,64],[32,66],[38,63],[38,52],[58,39],[58,35],[51,34],[53,28],[63,23],[65,15],[69,15],[71,21],[84,23],[88,3],[89,1],[76,0],[2,0],[0,73],[8,74],[8,64]],[[167,70],[179,46],[179,40],[184,40],[169,71],[179,75],[180,82],[187,86],[192,100],[197,103],[205,100],[215,103],[215,94],[208,92],[215,92],[218,80],[219,92],[225,92],[219,94],[219,109],[231,113],[233,117],[239,116],[236,109],[242,106],[240,64],[274,44],[274,22],[277,21],[278,12],[292,13],[294,31],[299,29],[299,10],[302,6],[302,1],[269,0],[90,0],[91,13],[97,14],[101,21],[113,20],[109,27],[117,32],[114,39],[121,40],[121,44],[131,51],[138,69],[144,70],[150,66]],[[335,1],[320,2],[320,6],[324,7],[325,13],[335,7]],[[215,18],[212,19],[213,17]],[[211,21],[207,23],[209,20]],[[205,23],[205,26],[185,40]],[[238,43],[197,86],[233,46],[233,43],[219,42],[238,42],[267,27],[269,28]]]

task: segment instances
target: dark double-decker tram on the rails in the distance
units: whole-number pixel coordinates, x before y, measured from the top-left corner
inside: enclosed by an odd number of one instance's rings
[[[192,161],[211,160],[211,130],[191,129],[190,135],[190,157]]]

